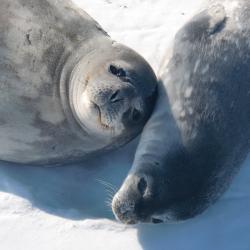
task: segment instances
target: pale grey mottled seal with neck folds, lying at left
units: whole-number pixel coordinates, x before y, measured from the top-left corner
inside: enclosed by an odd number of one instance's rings
[[[117,148],[156,97],[148,63],[66,0],[2,0],[0,160],[62,164]]]

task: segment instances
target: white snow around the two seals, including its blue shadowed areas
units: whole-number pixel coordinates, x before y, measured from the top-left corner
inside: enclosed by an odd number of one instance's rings
[[[175,32],[204,0],[74,0],[115,40],[157,71]],[[125,226],[110,207],[136,141],[78,166],[0,166],[1,250],[249,250],[250,157],[231,188],[205,213],[181,224]]]

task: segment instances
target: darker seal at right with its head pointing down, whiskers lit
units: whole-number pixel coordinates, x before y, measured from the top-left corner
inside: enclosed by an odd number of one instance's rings
[[[159,98],[113,198],[123,223],[189,219],[229,186],[250,144],[250,3],[220,2],[176,35]]]

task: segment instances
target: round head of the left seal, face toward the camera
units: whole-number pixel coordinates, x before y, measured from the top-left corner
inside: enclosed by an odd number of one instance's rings
[[[125,144],[141,132],[152,112],[157,79],[133,50],[115,42],[105,46],[74,67],[69,80],[70,107],[78,124],[93,138]]]

